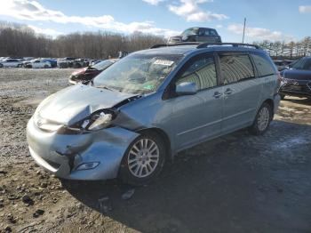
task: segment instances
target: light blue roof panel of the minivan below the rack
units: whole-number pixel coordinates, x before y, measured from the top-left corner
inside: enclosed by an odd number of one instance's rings
[[[251,47],[234,47],[224,45],[212,45],[204,48],[197,48],[197,45],[178,45],[178,46],[163,46],[154,49],[142,50],[139,54],[179,54],[189,55],[191,53],[201,52],[264,52],[262,49],[256,49]]]

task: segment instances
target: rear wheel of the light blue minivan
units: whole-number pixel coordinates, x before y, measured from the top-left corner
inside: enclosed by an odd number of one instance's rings
[[[254,135],[261,135],[266,133],[267,128],[273,117],[272,108],[268,103],[264,103],[260,108],[255,117],[255,120],[249,128],[250,133]]]

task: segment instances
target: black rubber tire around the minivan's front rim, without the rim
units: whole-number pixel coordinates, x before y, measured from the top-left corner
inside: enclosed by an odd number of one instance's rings
[[[154,173],[151,173],[148,177],[137,178],[134,175],[132,175],[132,173],[130,172],[129,167],[127,165],[127,159],[128,159],[128,153],[132,149],[132,145],[134,145],[137,141],[140,141],[140,139],[143,139],[143,138],[151,139],[152,141],[156,142],[156,145],[158,146],[159,152],[160,152],[160,159],[159,159],[159,163],[156,166],[156,170],[154,171]],[[153,132],[142,133],[140,134],[139,137],[137,137],[134,141],[132,141],[130,146],[126,149],[124,153],[124,157],[120,165],[118,177],[121,181],[127,184],[132,184],[134,186],[146,185],[154,181],[156,177],[162,172],[163,166],[166,161],[166,156],[167,156],[167,150],[166,150],[165,144],[157,133],[153,133]]]

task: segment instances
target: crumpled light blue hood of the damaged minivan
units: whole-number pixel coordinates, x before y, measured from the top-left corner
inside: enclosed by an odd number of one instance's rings
[[[135,94],[113,92],[76,84],[52,94],[37,108],[40,117],[63,125],[72,125],[94,111],[112,108]]]

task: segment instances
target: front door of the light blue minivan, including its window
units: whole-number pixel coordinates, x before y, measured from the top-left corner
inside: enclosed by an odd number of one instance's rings
[[[223,102],[223,89],[211,53],[200,54],[187,62],[173,84],[184,82],[195,83],[197,92],[171,99],[174,144],[179,150],[220,133]]]

